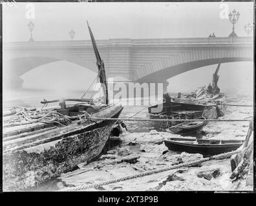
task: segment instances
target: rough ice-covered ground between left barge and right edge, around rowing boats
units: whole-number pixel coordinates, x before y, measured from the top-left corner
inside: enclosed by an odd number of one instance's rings
[[[250,105],[252,100],[246,93],[229,97],[229,104]],[[143,106],[125,107],[120,117],[131,117]],[[133,112],[131,112],[133,111]],[[136,118],[147,118],[147,109]],[[253,108],[227,107],[227,113],[220,119],[248,119],[253,117]],[[244,140],[249,122],[209,122],[202,131],[186,136],[204,139]],[[167,132],[154,131],[145,122],[125,122],[128,132],[123,132],[109,144],[109,148],[94,162],[83,162],[70,173],[41,185],[35,191],[61,191],[79,185],[88,185],[123,176],[161,169],[202,158],[202,154],[176,153],[168,151],[164,140],[180,137]],[[243,183],[232,183],[229,179],[229,159],[211,160],[196,167],[187,167],[127,180],[88,191],[251,191]]]

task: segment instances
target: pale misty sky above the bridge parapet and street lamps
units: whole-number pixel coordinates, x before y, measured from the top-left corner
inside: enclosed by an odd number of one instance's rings
[[[28,41],[27,24],[35,24],[36,41],[89,39],[86,20],[96,39],[227,37],[228,19],[220,19],[221,3],[34,3],[35,18],[27,19],[27,3],[3,7],[3,40]],[[244,24],[253,23],[253,3],[225,3],[240,12],[235,32],[244,36]],[[252,35],[252,34],[251,34]]]

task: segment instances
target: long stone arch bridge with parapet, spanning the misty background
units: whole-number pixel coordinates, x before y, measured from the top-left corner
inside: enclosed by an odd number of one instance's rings
[[[98,40],[108,77],[164,82],[180,73],[222,62],[253,61],[253,37]],[[3,76],[19,79],[43,64],[68,61],[97,71],[91,41],[3,44]],[[13,82],[13,81],[11,81]],[[20,85],[19,85],[20,86]]]

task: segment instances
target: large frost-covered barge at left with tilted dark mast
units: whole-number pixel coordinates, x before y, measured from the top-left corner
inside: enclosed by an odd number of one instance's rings
[[[58,178],[97,158],[123,106],[109,104],[104,63],[89,27],[104,100],[43,100],[44,108],[14,107],[3,115],[3,191],[22,191]],[[59,102],[48,108],[47,104]],[[75,102],[67,104],[67,102]]]

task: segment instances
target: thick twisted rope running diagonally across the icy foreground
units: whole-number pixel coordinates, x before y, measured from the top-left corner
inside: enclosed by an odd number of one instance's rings
[[[89,184],[89,185],[80,185],[80,186],[76,186],[76,187],[69,187],[69,188],[62,189],[61,191],[83,191],[85,189],[90,189],[90,188],[93,188],[93,187],[100,187],[100,186],[103,186],[103,185],[109,185],[111,183],[123,182],[125,180],[132,180],[134,178],[140,178],[140,177],[143,177],[143,176],[148,176],[148,175],[151,175],[151,174],[163,173],[165,171],[169,171],[169,170],[172,170],[172,169],[178,169],[180,167],[191,167],[193,165],[197,165],[197,164],[200,164],[201,162],[206,162],[206,161],[209,161],[209,160],[218,160],[218,159],[230,158],[233,154],[237,154],[237,153],[240,153],[240,150],[231,151],[231,152],[228,152],[228,153],[217,154],[217,155],[214,155],[214,156],[209,156],[207,158],[202,158],[200,160],[193,160],[191,162],[186,162],[186,163],[182,163],[182,164],[178,164],[178,165],[171,165],[169,167],[165,167],[165,168],[162,168],[162,169],[155,169],[155,170],[147,171],[147,172],[140,173],[140,174],[133,174],[133,175],[129,175],[129,176],[124,176],[122,178],[116,178],[114,180],[107,180],[107,181],[103,181],[103,182],[99,182],[99,183],[92,183],[92,184]]]

